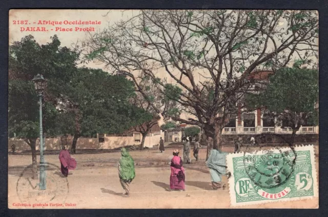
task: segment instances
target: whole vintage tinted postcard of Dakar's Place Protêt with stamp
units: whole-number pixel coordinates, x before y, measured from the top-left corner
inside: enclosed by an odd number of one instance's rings
[[[318,22],[10,10],[8,207],[318,208]]]

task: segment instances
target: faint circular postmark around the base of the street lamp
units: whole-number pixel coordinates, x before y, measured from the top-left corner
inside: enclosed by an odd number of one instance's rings
[[[32,165],[20,173],[16,184],[16,192],[22,204],[28,203],[35,207],[60,207],[65,204],[69,192],[67,177],[61,176],[60,168],[51,163],[45,163],[46,186],[39,190],[39,179],[32,179]],[[60,205],[61,204],[61,205]],[[33,207],[34,208],[34,207]]]

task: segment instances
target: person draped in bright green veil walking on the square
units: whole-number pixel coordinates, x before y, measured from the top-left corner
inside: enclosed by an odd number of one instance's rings
[[[134,161],[125,149],[121,149],[121,157],[118,163],[118,176],[119,182],[121,183],[122,188],[126,191],[123,196],[130,196],[130,186],[129,184],[135,177]]]

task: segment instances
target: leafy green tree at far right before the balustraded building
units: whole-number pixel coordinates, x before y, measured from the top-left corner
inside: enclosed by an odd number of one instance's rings
[[[246,98],[251,110],[262,108],[275,117],[276,125],[293,129],[291,138],[286,141],[292,146],[301,126],[318,124],[318,97],[318,70],[294,65],[294,68],[277,70],[264,91],[248,94]]]

